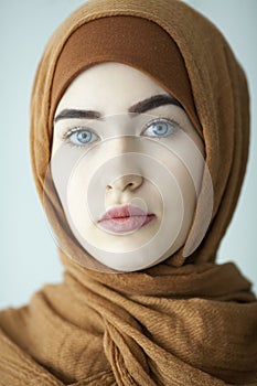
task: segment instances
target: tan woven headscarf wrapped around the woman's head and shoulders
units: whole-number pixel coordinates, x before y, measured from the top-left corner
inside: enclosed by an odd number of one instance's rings
[[[156,267],[110,275],[86,269],[61,250],[64,282],[45,286],[24,308],[0,313],[1,379],[12,386],[30,378],[42,385],[256,385],[256,298],[234,264],[214,262],[246,169],[248,93],[243,69],[212,23],[178,0],[93,0],[61,25],[41,60],[31,100],[31,156],[40,197],[51,158],[52,104],[74,75],[57,90],[65,45],[83,25],[121,17],[154,23],[180,51],[189,82],[179,95],[169,76],[140,68],[174,93],[202,131],[214,190],[212,221],[202,240],[210,194],[203,180],[186,240],[194,249],[190,256],[182,248]],[[71,244],[71,253],[85,254],[65,227],[53,190],[46,199],[58,240]]]

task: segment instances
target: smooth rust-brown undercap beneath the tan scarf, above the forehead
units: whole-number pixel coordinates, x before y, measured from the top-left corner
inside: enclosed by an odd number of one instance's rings
[[[183,106],[202,135],[189,75],[178,45],[158,24],[129,15],[89,21],[65,42],[52,82],[50,131],[57,104],[71,82],[84,69],[103,62],[131,65],[160,83]]]

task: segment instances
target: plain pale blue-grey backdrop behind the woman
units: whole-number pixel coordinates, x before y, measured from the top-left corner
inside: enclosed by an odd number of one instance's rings
[[[158,0],[157,0],[158,1]],[[0,308],[29,302],[44,283],[62,279],[57,249],[41,208],[29,157],[29,104],[43,49],[79,0],[0,1]],[[257,289],[257,1],[189,0],[211,19],[244,66],[251,95],[250,157],[240,200],[218,253]]]

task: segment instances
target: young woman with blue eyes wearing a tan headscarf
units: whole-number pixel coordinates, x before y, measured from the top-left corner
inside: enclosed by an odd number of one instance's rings
[[[215,256],[248,152],[244,73],[178,0],[89,1],[35,77],[31,156],[64,281],[0,313],[3,385],[255,385],[257,302]]]

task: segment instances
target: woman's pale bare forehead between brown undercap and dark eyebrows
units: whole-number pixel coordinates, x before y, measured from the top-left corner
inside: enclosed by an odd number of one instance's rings
[[[141,71],[121,63],[100,63],[81,73],[67,87],[56,108],[127,110],[138,100],[167,90]]]

